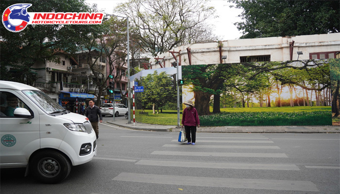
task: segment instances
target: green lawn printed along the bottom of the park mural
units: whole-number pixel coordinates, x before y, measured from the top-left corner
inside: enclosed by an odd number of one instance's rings
[[[140,110],[139,110],[140,111]],[[176,111],[152,114],[138,114],[136,120],[158,125],[177,125]],[[210,110],[212,112],[212,110]],[[199,116],[201,126],[307,126],[332,125],[331,107],[258,107],[221,108],[221,113]],[[182,119],[182,112],[180,113]]]

